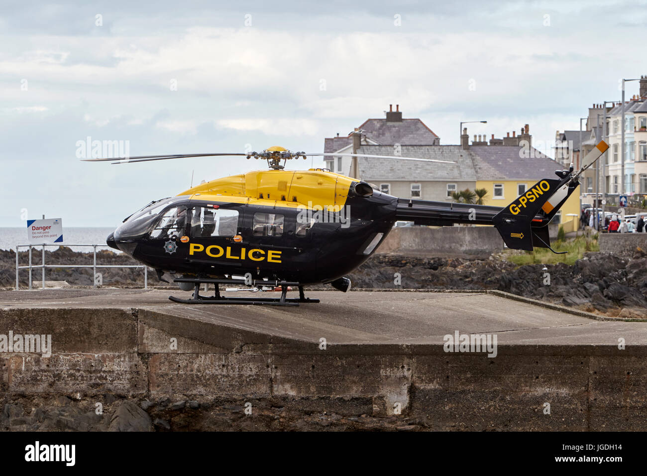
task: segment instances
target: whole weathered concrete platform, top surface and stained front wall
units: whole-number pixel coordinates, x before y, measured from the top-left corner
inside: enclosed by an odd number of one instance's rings
[[[375,418],[415,418],[425,429],[647,429],[644,322],[489,293],[317,292],[320,304],[298,308],[191,306],[168,294],[0,293],[0,334],[52,334],[51,357],[0,353],[3,403],[106,392],[279,399],[303,416],[327,405],[366,413],[370,402]],[[444,352],[455,331],[496,334],[497,356]]]

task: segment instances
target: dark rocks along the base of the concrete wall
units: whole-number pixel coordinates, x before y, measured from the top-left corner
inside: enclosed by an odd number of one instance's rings
[[[150,402],[113,394],[41,395],[6,400],[1,410],[0,431],[417,431],[434,423],[373,416],[371,398]]]

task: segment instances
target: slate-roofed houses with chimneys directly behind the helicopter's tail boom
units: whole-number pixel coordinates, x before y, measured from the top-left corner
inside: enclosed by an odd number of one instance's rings
[[[399,105],[389,106],[384,119],[367,119],[348,135],[325,139],[324,152],[391,155],[450,161],[451,163],[380,159],[376,157],[327,157],[333,172],[362,179],[393,196],[435,201],[454,201],[453,193],[485,189],[484,205],[504,207],[536,182],[554,178],[560,163],[532,147],[528,124],[517,135],[469,140],[463,129],[461,144],[441,145],[440,137],[420,119],[403,119]],[[578,196],[571,196],[553,223],[565,231],[577,229]]]

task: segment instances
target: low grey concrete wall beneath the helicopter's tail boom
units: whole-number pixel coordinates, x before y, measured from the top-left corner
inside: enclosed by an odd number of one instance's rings
[[[494,227],[399,227],[391,230],[375,252],[487,258],[502,249],[503,240]]]

